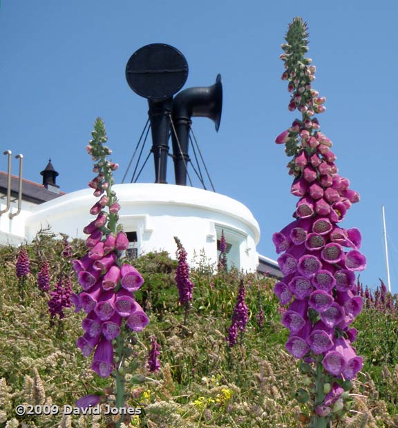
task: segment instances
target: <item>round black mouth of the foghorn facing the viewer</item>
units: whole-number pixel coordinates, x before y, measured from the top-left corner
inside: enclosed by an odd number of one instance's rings
[[[164,43],[143,46],[131,55],[126,66],[130,88],[148,99],[164,99],[177,93],[188,77],[184,55]]]

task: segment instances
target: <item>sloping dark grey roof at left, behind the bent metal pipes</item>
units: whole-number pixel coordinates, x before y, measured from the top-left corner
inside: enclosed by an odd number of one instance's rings
[[[0,193],[7,193],[7,173],[0,171]],[[19,191],[19,177],[11,175],[11,195],[12,197],[18,197]],[[30,182],[30,180],[22,179],[22,200],[32,202],[33,204],[41,204],[55,199],[61,195],[65,195],[64,192],[59,191],[55,193],[49,191],[42,184]]]

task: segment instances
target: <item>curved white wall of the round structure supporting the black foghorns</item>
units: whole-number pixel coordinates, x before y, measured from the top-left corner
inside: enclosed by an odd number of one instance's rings
[[[122,209],[124,231],[135,231],[138,253],[168,251],[175,257],[178,236],[192,259],[194,251],[205,251],[207,260],[217,261],[217,239],[224,230],[231,250],[227,257],[238,269],[255,271],[258,223],[249,209],[225,195],[200,188],[173,184],[116,184],[113,186]],[[97,202],[91,189],[68,193],[32,209],[26,219],[26,239],[35,237],[41,226],[70,237],[86,235],[82,229],[93,220],[88,212]]]

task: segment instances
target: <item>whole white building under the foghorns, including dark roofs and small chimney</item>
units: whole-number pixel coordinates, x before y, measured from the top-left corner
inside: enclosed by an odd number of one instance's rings
[[[97,201],[90,188],[62,193],[55,184],[58,173],[51,162],[41,171],[43,184],[21,181],[20,212],[18,177],[11,176],[10,206],[0,216],[0,244],[30,242],[50,226],[54,233],[86,238],[83,228],[93,220],[89,210]],[[8,176],[0,173],[0,211],[7,208]],[[243,271],[269,272],[278,276],[276,262],[259,256],[260,228],[249,209],[225,195],[174,184],[116,184],[120,222],[131,241],[133,255],[167,251],[175,257],[177,236],[193,255],[205,254],[217,263],[221,232],[227,241],[227,259]]]

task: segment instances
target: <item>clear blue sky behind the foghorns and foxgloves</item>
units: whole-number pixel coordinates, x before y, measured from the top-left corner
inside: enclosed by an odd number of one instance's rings
[[[23,154],[26,179],[41,182],[51,157],[61,190],[86,188],[92,173],[84,146],[101,116],[121,182],[147,118],[146,100],[126,83],[126,62],[148,43],[170,44],[189,64],[184,88],[209,86],[222,75],[219,133],[203,118],[194,118],[193,130],[216,191],[249,207],[261,228],[258,252],[276,258],[272,233],[292,220],[298,200],[290,195],[289,159],[274,144],[297,115],[287,110],[279,55],[287,24],[301,16],[310,26],[313,87],[327,98],[321,130],[332,139],[339,173],[361,195],[341,226],[361,230],[368,258],[361,279],[375,287],[378,278],[386,280],[386,207],[392,291],[398,292],[397,6],[326,3],[3,0],[1,151]],[[153,182],[151,161],[140,182]],[[0,158],[0,170],[6,168]],[[172,170],[169,162],[171,184]]]

